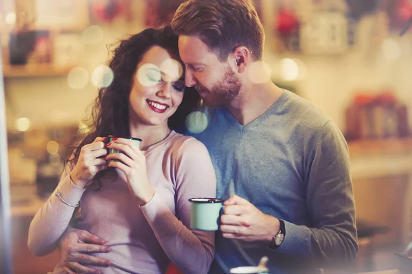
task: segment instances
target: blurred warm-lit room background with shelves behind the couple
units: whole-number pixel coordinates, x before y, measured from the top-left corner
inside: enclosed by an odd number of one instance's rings
[[[97,86],[113,79],[108,49],[170,22],[181,2],[0,1],[12,225],[5,252],[14,273],[44,274],[58,261],[58,251],[31,255],[27,229],[86,129]],[[273,82],[317,105],[347,138],[360,244],[347,273],[396,269],[394,253],[407,250],[412,234],[412,2],[253,4]]]

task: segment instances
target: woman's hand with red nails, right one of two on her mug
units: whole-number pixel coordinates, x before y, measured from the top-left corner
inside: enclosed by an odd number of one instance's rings
[[[114,142],[107,144],[111,149],[119,149],[124,153],[111,153],[106,156],[106,160],[117,159],[120,162],[109,162],[108,166],[115,167],[124,172],[127,178],[130,192],[137,197],[140,206],[146,205],[155,190],[148,180],[146,169],[146,158],[135,142],[125,138],[112,138]]]

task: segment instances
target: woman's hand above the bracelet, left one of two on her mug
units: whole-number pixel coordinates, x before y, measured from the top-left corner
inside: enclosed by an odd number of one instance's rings
[[[106,160],[99,158],[107,154],[104,140],[106,140],[106,137],[97,137],[91,144],[84,145],[80,149],[78,162],[70,173],[70,177],[76,186],[85,188],[91,184],[91,179],[96,173],[106,169]]]

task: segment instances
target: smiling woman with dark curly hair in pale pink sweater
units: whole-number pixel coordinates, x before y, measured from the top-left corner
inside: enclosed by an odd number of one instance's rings
[[[178,52],[170,27],[146,29],[115,49],[114,80],[100,89],[93,131],[30,225],[28,245],[37,256],[54,250],[80,201],[76,227],[111,247],[93,253],[112,262],[102,273],[164,273],[170,261],[183,273],[207,273],[214,233],[187,228],[187,200],[215,197],[216,177],[205,146],[173,130],[184,130],[197,96],[185,90]],[[140,149],[117,138],[110,148],[124,153],[106,155],[109,135],[141,138]]]

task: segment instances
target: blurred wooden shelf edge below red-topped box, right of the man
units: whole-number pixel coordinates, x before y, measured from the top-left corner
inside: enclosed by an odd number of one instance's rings
[[[347,142],[350,156],[371,154],[371,153],[412,153],[412,137],[407,138],[388,138],[373,140],[352,140]]]

